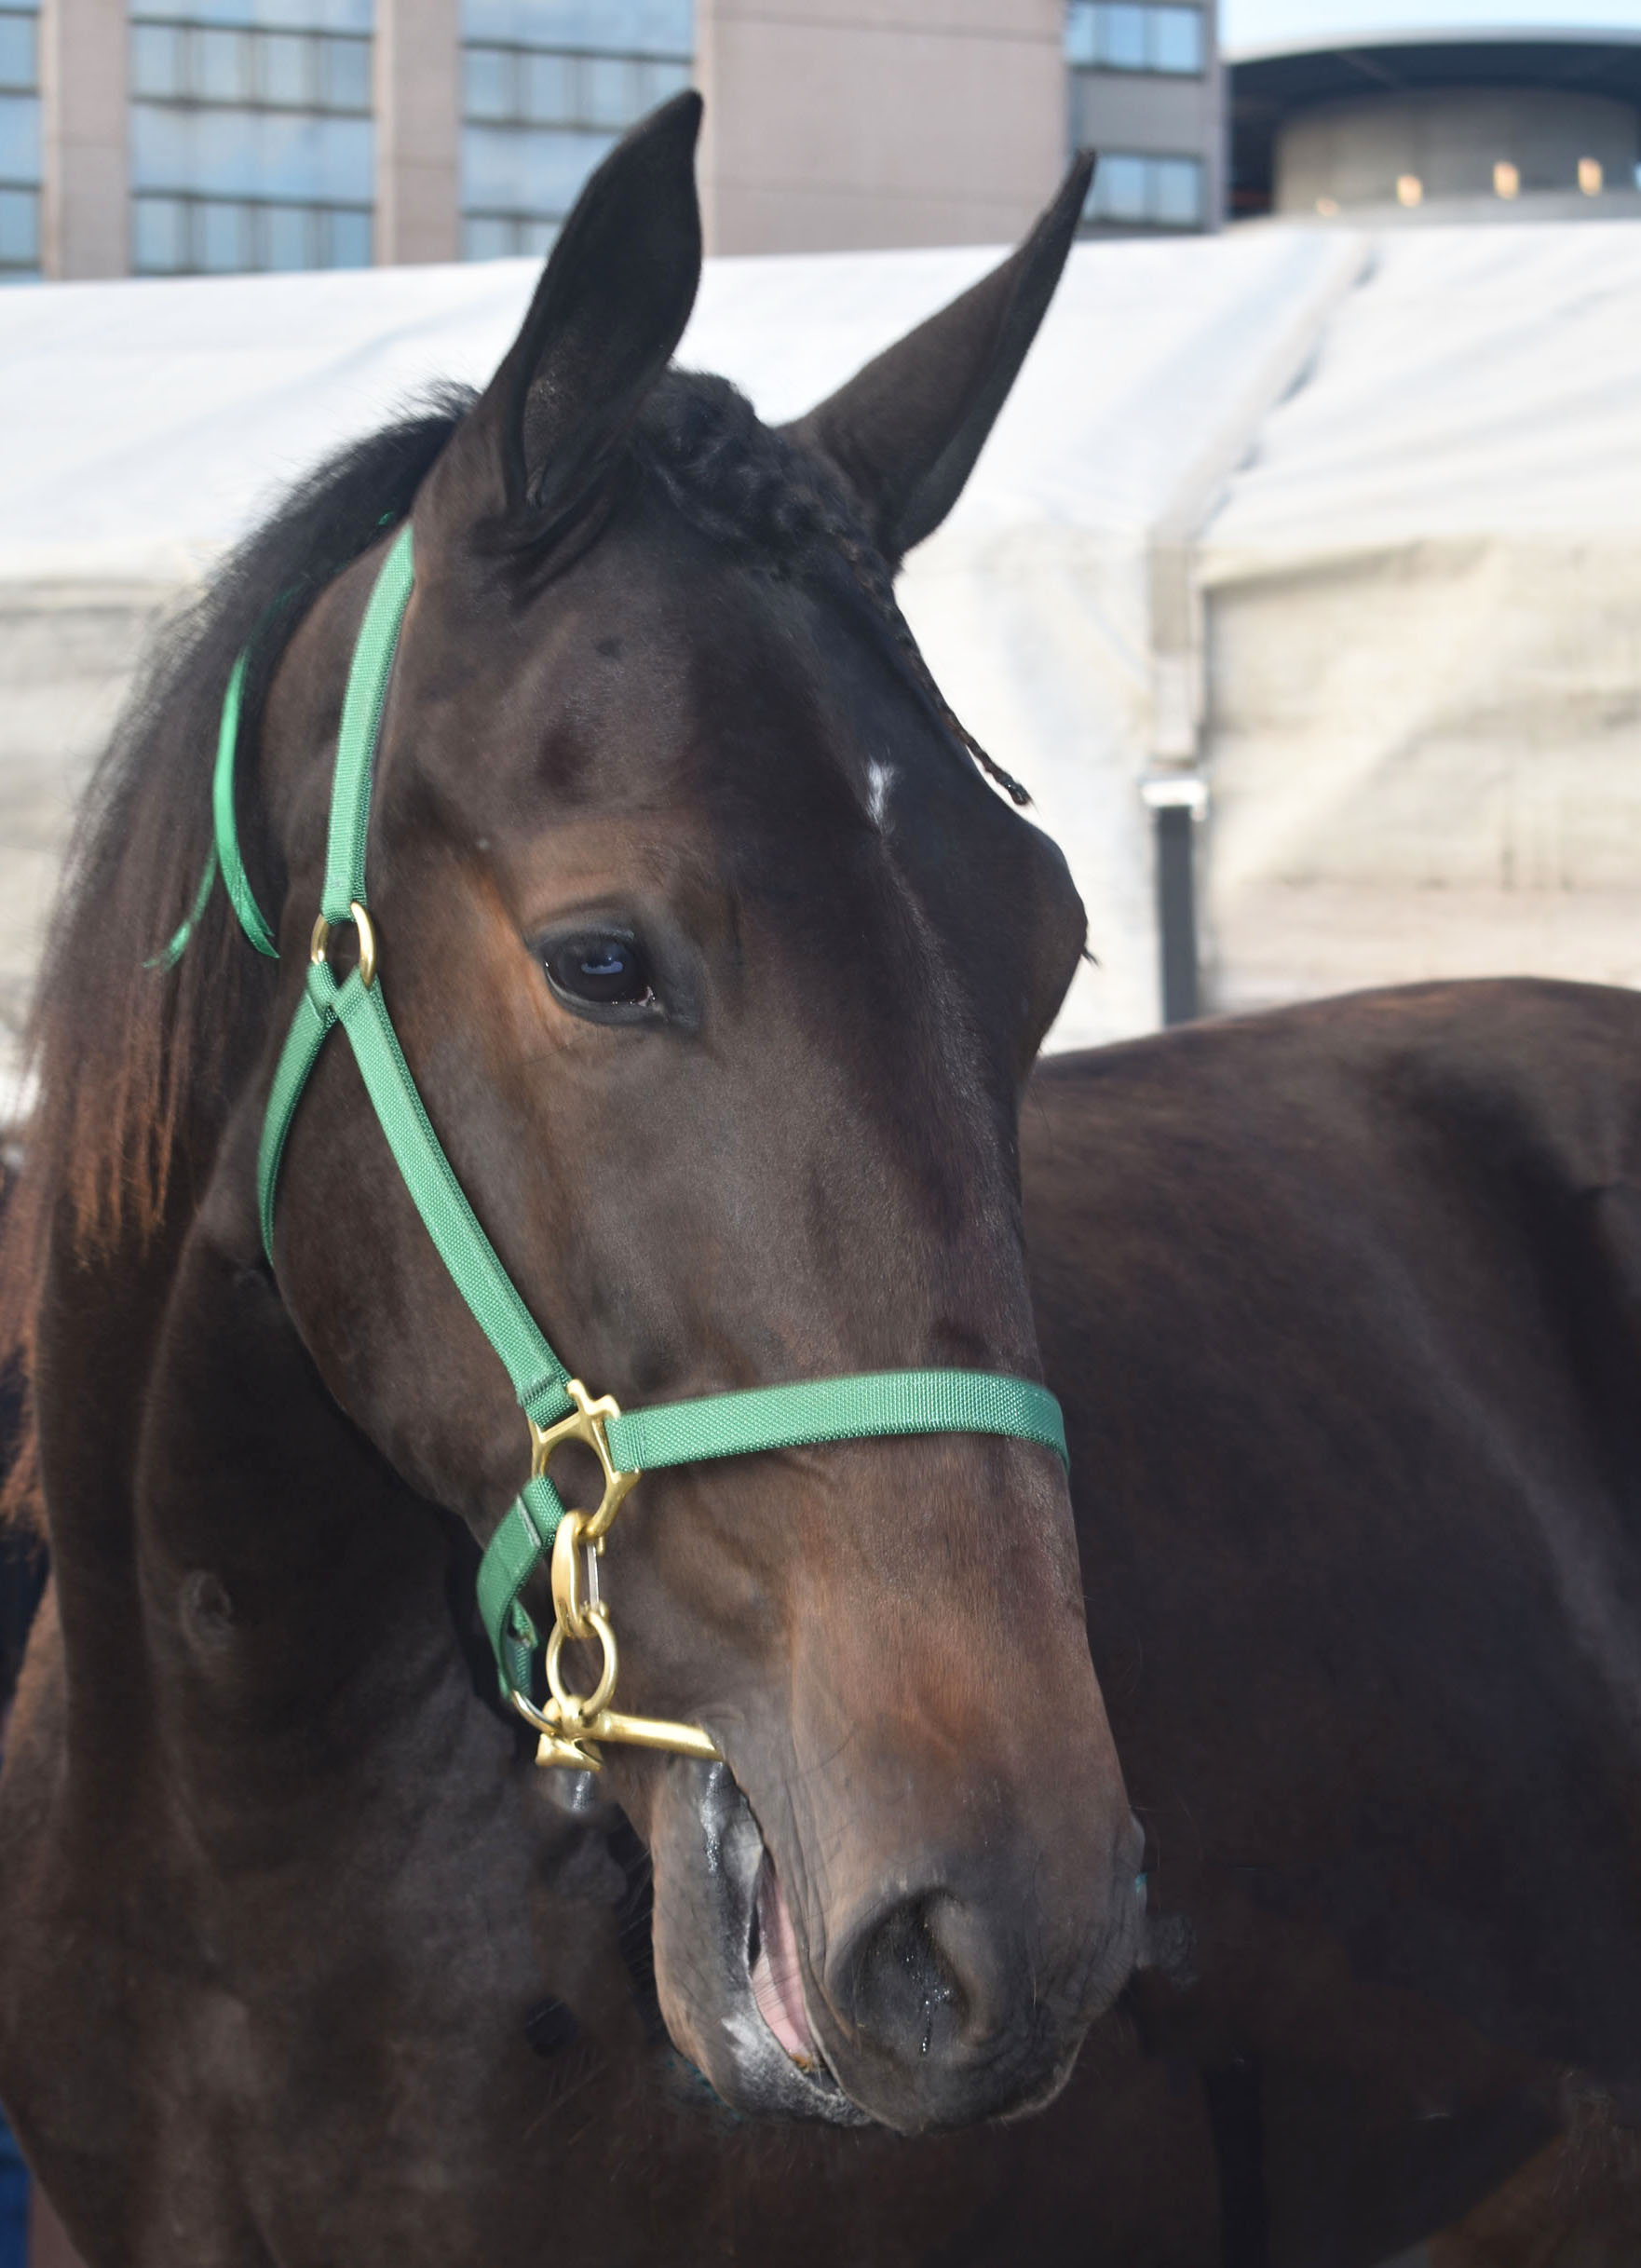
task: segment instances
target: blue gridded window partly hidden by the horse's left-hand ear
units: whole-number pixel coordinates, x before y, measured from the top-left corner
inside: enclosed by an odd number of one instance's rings
[[[462,0],[462,256],[542,254],[691,52],[691,0]]]

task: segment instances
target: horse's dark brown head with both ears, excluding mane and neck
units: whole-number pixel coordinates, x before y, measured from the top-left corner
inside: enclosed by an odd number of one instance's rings
[[[891,578],[979,454],[1086,172],[1004,268],[771,431],[669,367],[698,113],[678,98],[603,163],[415,497],[379,982],[474,1213],[596,1393],[1034,1377],[1015,1127],[1083,912]],[[288,975],[263,1091],[383,544],[267,689]],[[295,1116],[272,1263],[340,1408],[487,1542],[524,1424],[340,1050]],[[941,1433],[648,1472],[605,1579],[623,1703],[723,1758],[603,1765],[655,1853],[666,2021],[719,2093],[902,2130],[1045,2100],[1138,1932],[1058,1461]]]

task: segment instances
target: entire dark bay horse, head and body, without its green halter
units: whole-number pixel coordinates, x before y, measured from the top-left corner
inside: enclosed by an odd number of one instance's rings
[[[1564,2068],[1636,2077],[1641,1007],[1335,1002],[1049,1064],[1020,1114],[1081,909],[888,578],[1083,177],[768,435],[666,372],[694,125],[596,177],[478,404],[247,547],[102,776],[7,1259],[54,1583],[0,2096],[93,2268],[1367,2268],[1555,2134]],[[1081,1581],[1022,1445],[644,1479],[632,1692],[728,1767],[537,1774],[499,1710],[471,1599],[517,1411],[342,1055],[258,1250],[406,513],[385,982],[553,1338],[632,1399],[1040,1345],[1068,1411]],[[143,968],[247,644],[283,962],[218,894]]]

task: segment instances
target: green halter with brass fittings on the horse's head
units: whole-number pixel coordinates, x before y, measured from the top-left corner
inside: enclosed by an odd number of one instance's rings
[[[263,1245],[272,1261],[274,1198],[286,1139],[320,1050],[340,1025],[399,1175],[456,1288],[512,1379],[530,1427],[530,1479],[478,1565],[478,1608],[496,1653],[503,1696],[542,1733],[544,1765],[596,1769],[598,1751],[589,1744],[603,1740],[716,1758],[712,1737],[698,1726],[621,1717],[610,1708],[617,1642],[607,1606],[598,1597],[598,1558],[610,1522],[637,1476],[662,1465],[898,1433],[1004,1433],[1054,1449],[1065,1461],[1061,1406],[1043,1386],[979,1370],[884,1370],[800,1386],[759,1386],[750,1393],[705,1395],[698,1402],[666,1402],[626,1413],[607,1397],[594,1399],[578,1379],[571,1379],[496,1259],[444,1157],[383,998],[376,930],[365,889],[365,844],[381,719],[413,585],[406,522],[376,576],[347,676],[324,896],[301,998],[279,1055],[263,1120],[256,1175]],[[186,950],[218,866],[249,941],[258,953],[277,953],[272,930],[245,875],[233,823],[243,687],[245,655],[233,665],[222,703],[213,782],[215,850],[188,921],[161,955],[165,966]],[[358,966],[338,982],[329,964],[329,941],[342,923],[351,923],[358,937]],[[564,1440],[580,1440],[598,1456],[605,1488],[594,1513],[567,1513],[549,1479],[549,1461]],[[542,1662],[549,1696],[537,1708],[533,1696],[542,1640],[521,1603],[521,1592],[549,1558],[555,1624]],[[601,1676],[592,1694],[573,1694],[562,1681],[560,1656],[571,1637],[601,1647]]]

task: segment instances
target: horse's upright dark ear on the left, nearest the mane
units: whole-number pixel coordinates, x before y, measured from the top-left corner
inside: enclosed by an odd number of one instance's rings
[[[471,519],[551,544],[585,508],[682,338],[700,284],[700,95],[673,95],[598,166],[524,329],[440,467]]]

